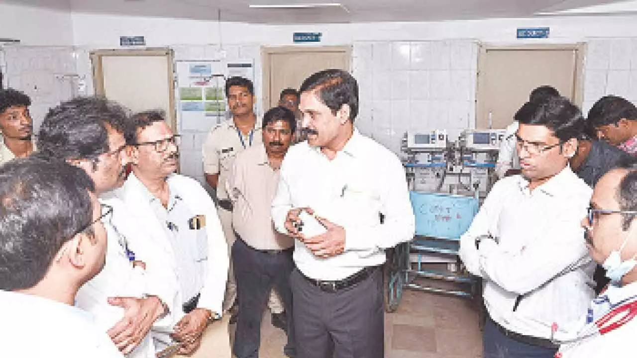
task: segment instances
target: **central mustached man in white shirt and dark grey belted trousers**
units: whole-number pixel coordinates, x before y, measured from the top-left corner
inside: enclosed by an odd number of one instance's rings
[[[272,203],[276,229],[296,238],[290,283],[298,357],[383,357],[379,268],[386,248],[413,238],[403,166],[354,129],[358,94],[354,77],[340,69],[303,82],[308,141],[285,155]],[[299,231],[302,208],[324,233]]]

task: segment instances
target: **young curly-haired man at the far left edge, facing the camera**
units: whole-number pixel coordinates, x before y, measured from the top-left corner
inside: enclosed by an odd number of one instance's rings
[[[34,150],[29,106],[31,99],[23,92],[0,89],[0,165],[16,157],[26,157]]]

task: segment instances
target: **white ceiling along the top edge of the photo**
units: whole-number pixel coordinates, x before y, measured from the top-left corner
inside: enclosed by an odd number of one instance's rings
[[[341,3],[342,8],[251,9],[250,4]],[[441,21],[533,17],[612,0],[0,0],[74,13],[294,24],[327,22]]]

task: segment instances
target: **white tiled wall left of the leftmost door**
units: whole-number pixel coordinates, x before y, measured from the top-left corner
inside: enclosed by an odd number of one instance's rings
[[[31,116],[37,129],[52,106],[77,95],[79,77],[73,47],[4,46],[6,85],[31,97]]]

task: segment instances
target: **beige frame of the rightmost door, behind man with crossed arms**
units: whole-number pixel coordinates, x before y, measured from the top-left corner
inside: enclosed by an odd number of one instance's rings
[[[538,44],[538,45],[490,45],[489,43],[480,43],[478,45],[478,73],[476,76],[476,122],[475,127],[479,128],[478,124],[487,122],[486,118],[480,118],[482,112],[482,106],[484,105],[483,92],[486,86],[485,76],[481,76],[485,63],[487,62],[487,51],[498,50],[573,50],[575,51],[575,73],[573,74],[573,102],[576,106],[582,108],[583,94],[584,94],[584,57],[586,54],[586,43],[552,43],[552,44]],[[482,120],[484,119],[484,120]]]

